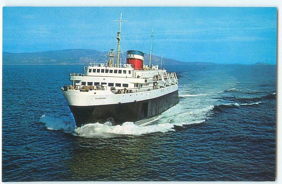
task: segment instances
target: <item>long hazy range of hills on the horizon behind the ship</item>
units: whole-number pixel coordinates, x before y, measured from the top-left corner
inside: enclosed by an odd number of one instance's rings
[[[106,63],[108,52],[92,49],[67,49],[59,51],[44,51],[31,53],[3,52],[3,64],[87,64],[90,62]],[[99,57],[100,56],[100,57]],[[126,57],[126,54],[125,54]],[[97,60],[98,59],[98,60]],[[97,60],[97,61],[96,61]],[[144,64],[148,65],[149,54],[144,55]],[[152,55],[151,64],[161,64],[161,57]],[[214,64],[205,62],[181,62],[174,59],[163,58],[166,64]]]

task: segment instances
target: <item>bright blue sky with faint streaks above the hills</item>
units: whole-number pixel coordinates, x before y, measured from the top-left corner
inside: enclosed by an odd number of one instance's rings
[[[149,53],[153,28],[155,55],[276,64],[275,7],[3,7],[3,51],[115,49],[120,12],[123,51]]]

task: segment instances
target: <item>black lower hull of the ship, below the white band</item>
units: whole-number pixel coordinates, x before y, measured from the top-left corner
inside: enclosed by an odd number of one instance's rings
[[[106,122],[112,124],[136,122],[152,118],[175,106],[179,102],[178,90],[166,95],[143,101],[100,106],[69,106],[77,127],[83,124]]]

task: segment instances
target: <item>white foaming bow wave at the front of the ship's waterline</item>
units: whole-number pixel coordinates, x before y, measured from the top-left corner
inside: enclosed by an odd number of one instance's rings
[[[138,126],[134,122],[125,122],[121,125],[111,125],[111,122],[104,124],[92,123],[85,124],[82,127],[75,128],[74,122],[62,118],[48,117],[43,115],[40,122],[45,123],[49,130],[63,130],[81,137],[117,137],[121,135],[142,135],[154,132],[175,131],[174,125],[195,124],[205,122],[207,113],[213,106],[205,108],[194,108],[190,111],[178,104],[163,112],[161,116],[151,121],[151,124]]]

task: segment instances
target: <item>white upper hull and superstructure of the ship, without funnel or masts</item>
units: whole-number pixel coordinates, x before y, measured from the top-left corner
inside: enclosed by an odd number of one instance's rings
[[[69,105],[96,106],[142,101],[178,89],[175,73],[153,68],[134,70],[130,64],[109,67],[89,63],[83,73],[70,74],[73,85],[63,87],[63,94]]]

